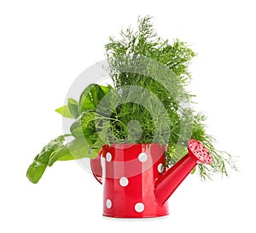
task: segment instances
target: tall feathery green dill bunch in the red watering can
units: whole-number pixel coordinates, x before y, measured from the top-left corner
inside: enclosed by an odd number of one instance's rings
[[[226,165],[236,169],[230,154],[224,151],[215,149],[213,143],[215,139],[206,132],[205,120],[206,117],[201,113],[196,113],[191,108],[184,108],[183,103],[187,105],[192,104],[193,95],[187,90],[191,75],[188,67],[190,61],[195,57],[193,52],[186,43],[175,39],[172,43],[168,40],[163,40],[158,37],[151,24],[151,18],[146,16],[138,19],[137,31],[127,28],[120,32],[119,39],[110,37],[110,42],[105,46],[108,62],[110,65],[109,75],[113,80],[113,85],[119,98],[122,98],[122,88],[124,86],[134,87],[139,86],[147,89],[154,94],[160,102],[165,106],[166,116],[161,117],[161,124],[159,125],[156,118],[144,108],[134,102],[125,104],[116,104],[118,107],[112,115],[113,119],[119,119],[121,124],[110,124],[111,134],[109,131],[105,137],[108,138],[109,143],[150,143],[158,142],[161,144],[168,144],[168,151],[166,152],[166,166],[172,166],[182,156],[186,154],[186,146],[189,137],[200,140],[213,156],[213,162],[210,165],[199,164],[199,173],[201,179],[210,178],[212,173],[222,173],[228,175]],[[166,69],[173,72],[174,75],[169,75],[168,72],[157,70],[157,63],[145,63],[146,72],[143,74],[137,73],[136,69],[139,66],[137,60],[148,58],[165,65]],[[125,69],[124,69],[125,67]],[[129,72],[129,68],[134,69],[134,72]],[[130,70],[131,70],[130,69]],[[172,88],[172,92],[155,80],[154,71],[157,70],[158,76],[162,76],[163,82],[169,82],[168,87]],[[165,69],[164,69],[165,70]],[[162,72],[162,73],[161,73]],[[125,92],[129,95],[129,91]],[[141,99],[143,93],[137,93],[137,98]],[[127,97],[127,96],[126,96]],[[135,97],[136,98],[136,97]],[[129,99],[129,98],[128,98]],[[143,100],[145,103],[147,100]],[[150,101],[150,99],[148,99]],[[154,105],[154,112],[158,111],[158,106]],[[185,116],[188,125],[183,122]],[[166,118],[166,120],[165,120]],[[115,120],[113,120],[115,121]],[[138,122],[138,134],[131,134],[135,132],[135,128],[130,130],[129,122]],[[170,131],[170,136],[166,141],[165,136]],[[156,131],[158,131],[156,133]],[[183,131],[187,131],[183,132]],[[184,134],[183,134],[184,133]],[[153,139],[154,135],[158,134],[157,139]],[[139,135],[139,138],[138,138]]]

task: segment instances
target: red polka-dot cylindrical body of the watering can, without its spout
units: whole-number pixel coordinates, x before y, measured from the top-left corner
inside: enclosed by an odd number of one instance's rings
[[[159,202],[161,194],[155,191],[155,182],[164,179],[163,175],[169,168],[165,164],[163,149],[156,143],[102,146],[96,168],[102,175],[103,216],[145,218],[168,214],[168,205],[166,202],[162,204],[167,198]]]

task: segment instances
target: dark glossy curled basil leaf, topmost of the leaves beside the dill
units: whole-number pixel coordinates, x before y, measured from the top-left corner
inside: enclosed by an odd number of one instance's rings
[[[102,98],[110,92],[109,87],[98,84],[90,84],[84,89],[79,99],[79,112],[96,109]]]

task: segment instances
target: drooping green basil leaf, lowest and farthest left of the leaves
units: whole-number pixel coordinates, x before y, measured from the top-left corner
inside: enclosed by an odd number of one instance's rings
[[[34,161],[27,169],[26,177],[33,183],[37,184],[39,179],[41,179],[44,171],[48,165],[50,155],[61,148],[65,140],[66,135],[61,135],[55,139],[49,141],[47,145],[44,146],[42,151],[34,158]]]

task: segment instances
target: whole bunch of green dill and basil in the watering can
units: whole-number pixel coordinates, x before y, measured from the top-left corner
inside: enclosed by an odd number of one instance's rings
[[[170,43],[154,31],[151,18],[138,19],[120,38],[110,37],[105,46],[110,85],[90,84],[79,101],[57,111],[74,118],[71,134],[52,140],[28,168],[27,177],[37,183],[47,166],[58,160],[96,157],[102,145],[113,143],[160,143],[168,145],[166,166],[187,153],[190,138],[200,140],[213,157],[210,165],[199,164],[201,179],[213,173],[227,175],[227,165],[236,169],[230,154],[214,148],[206,133],[206,117],[188,107],[194,95],[188,91],[188,70],[195,53],[178,39]],[[64,138],[72,136],[66,145]],[[57,140],[57,143],[56,143]]]

